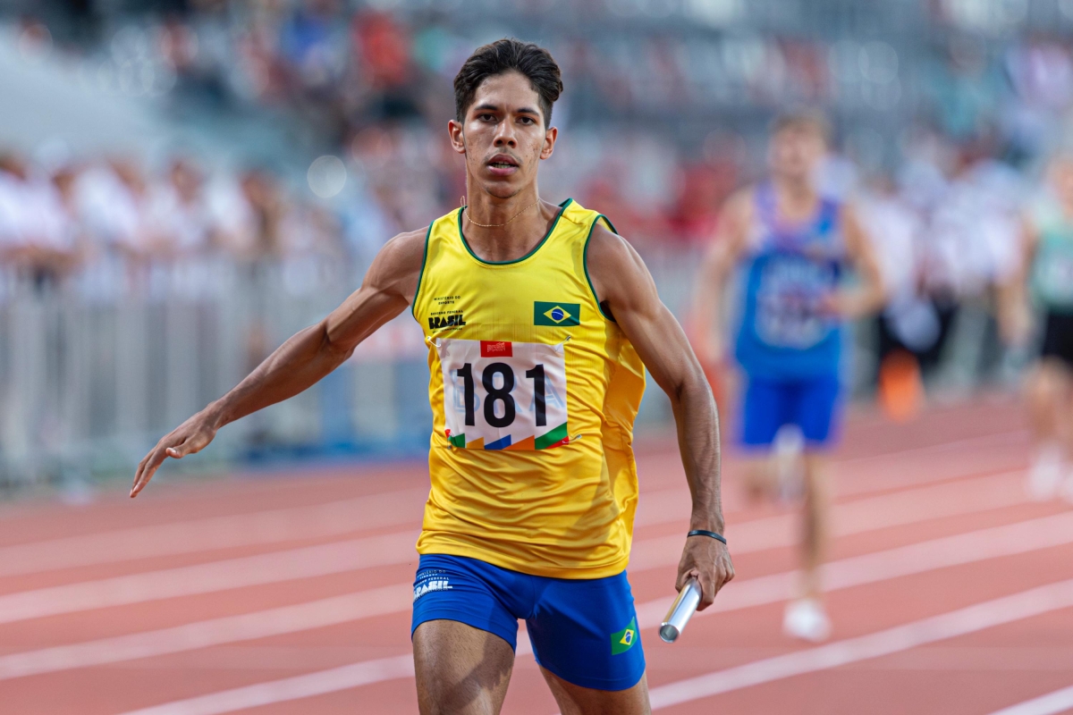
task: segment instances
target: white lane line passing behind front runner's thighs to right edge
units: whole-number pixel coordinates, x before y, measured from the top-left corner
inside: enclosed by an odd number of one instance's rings
[[[1073,607],[1073,580],[1052,583],[867,636],[663,685],[650,690],[652,709],[667,707],[751,685],[878,658],[1071,607]],[[380,662],[382,661],[373,660],[353,664],[296,677],[177,700],[122,715],[220,715],[311,695],[348,690],[373,682],[412,676],[412,669],[405,675],[394,670],[380,675],[379,680],[372,680],[364,667]],[[350,668],[359,670],[352,673],[348,670]]]

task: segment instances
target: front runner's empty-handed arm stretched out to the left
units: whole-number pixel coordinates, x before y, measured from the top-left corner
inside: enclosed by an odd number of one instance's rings
[[[349,358],[358,343],[410,304],[425,251],[425,230],[399,234],[373,259],[362,287],[318,323],[299,330],[222,398],[164,435],[134,474],[131,496],[145,489],[168,457],[204,449],[236,419],[312,386]]]

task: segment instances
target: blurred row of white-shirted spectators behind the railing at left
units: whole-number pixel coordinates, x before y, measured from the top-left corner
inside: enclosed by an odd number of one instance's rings
[[[90,299],[210,288],[205,260],[233,266],[347,254],[339,219],[295,200],[262,168],[209,176],[176,157],[157,172],[128,158],[35,161],[0,154],[0,266],[8,292],[72,286]],[[195,271],[182,266],[197,264]],[[191,282],[192,281],[192,282]]]

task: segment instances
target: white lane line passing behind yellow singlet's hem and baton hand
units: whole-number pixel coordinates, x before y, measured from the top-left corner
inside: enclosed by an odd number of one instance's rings
[[[847,525],[837,533],[847,535],[905,525],[917,519],[1009,506],[1026,498],[1009,478],[1016,474],[991,475],[838,505],[834,523],[844,522]],[[796,541],[795,523],[793,516],[780,515],[733,526],[727,533],[734,539],[733,552],[743,554],[791,546]],[[397,532],[0,595],[0,624],[411,563],[416,560],[415,540],[415,532]],[[636,541],[629,570],[636,574],[677,562],[681,541],[680,535]]]

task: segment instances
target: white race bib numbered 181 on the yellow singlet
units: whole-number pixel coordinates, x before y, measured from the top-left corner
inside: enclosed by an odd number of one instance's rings
[[[446,436],[462,449],[567,444],[563,344],[441,338]]]

